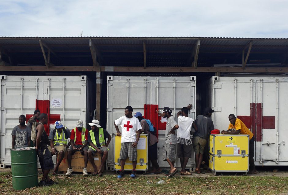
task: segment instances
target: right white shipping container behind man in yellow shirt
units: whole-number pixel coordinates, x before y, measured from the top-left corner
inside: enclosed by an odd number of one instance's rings
[[[218,77],[208,84],[216,129],[227,130],[234,114],[255,136],[255,165],[287,165],[287,77]]]

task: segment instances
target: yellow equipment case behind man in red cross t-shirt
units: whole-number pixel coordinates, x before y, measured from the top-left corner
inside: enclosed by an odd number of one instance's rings
[[[113,134],[114,140],[114,170],[120,170],[120,149],[121,149],[121,136]],[[128,157],[125,162],[124,170],[132,170],[132,161]],[[148,170],[148,135],[141,134],[137,145],[137,165],[136,171]]]

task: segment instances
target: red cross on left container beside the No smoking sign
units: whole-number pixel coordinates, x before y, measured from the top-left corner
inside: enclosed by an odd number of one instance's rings
[[[49,125],[54,125],[56,121],[60,121],[60,115],[51,115],[50,114],[50,100],[37,100],[36,99],[36,109],[40,110],[41,113],[48,115],[48,125],[44,125],[47,134],[49,135]],[[33,115],[26,115],[26,123]]]

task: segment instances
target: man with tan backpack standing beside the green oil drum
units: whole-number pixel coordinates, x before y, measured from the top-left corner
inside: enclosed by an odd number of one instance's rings
[[[36,129],[34,128],[35,125],[32,125],[32,141],[35,141],[34,145],[36,147],[36,152],[43,172],[42,179],[38,183],[38,186],[49,186],[57,184],[57,182],[51,180],[48,176],[50,169],[54,169],[51,153],[47,149],[47,145],[50,145],[51,142],[49,141],[48,135],[44,128],[44,124],[48,123],[48,116],[47,114],[42,113],[39,118],[40,122],[37,123]]]

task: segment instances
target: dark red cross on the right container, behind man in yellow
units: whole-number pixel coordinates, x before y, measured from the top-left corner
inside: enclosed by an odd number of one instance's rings
[[[262,141],[262,129],[275,129],[275,116],[263,116],[261,103],[250,103],[250,116],[237,116],[237,118],[256,135],[257,142]]]

